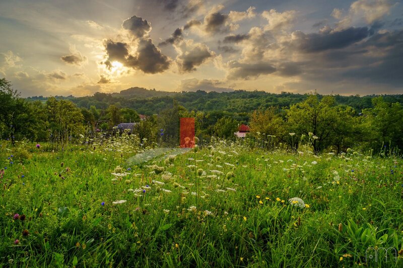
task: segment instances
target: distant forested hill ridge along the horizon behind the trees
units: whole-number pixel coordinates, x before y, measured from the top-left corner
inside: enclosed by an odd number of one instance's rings
[[[56,97],[57,99],[69,99],[78,107],[90,109],[95,106],[97,109],[107,109],[109,105],[119,108],[132,108],[139,114],[158,114],[162,110],[170,107],[173,100],[187,110],[197,110],[204,112],[220,111],[222,113],[249,113],[254,110],[264,109],[270,106],[290,107],[290,105],[301,102],[307,98],[307,94],[293,93],[266,93],[263,91],[233,91],[233,92],[162,92],[156,90],[146,90],[142,87],[131,87],[120,93],[95,93],[93,96],[75,98]],[[389,103],[403,104],[403,95],[382,95],[383,99]],[[319,95],[319,98],[322,96]],[[335,95],[338,104],[353,107],[358,113],[365,108],[372,107],[371,96],[340,96]],[[46,100],[43,97],[31,97],[28,100]]]

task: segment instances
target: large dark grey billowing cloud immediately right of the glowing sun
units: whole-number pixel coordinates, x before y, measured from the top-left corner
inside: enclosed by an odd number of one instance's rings
[[[145,73],[157,73],[169,68],[169,60],[156,48],[151,39],[148,39],[140,41],[137,55],[129,55],[126,65],[138,68]]]

